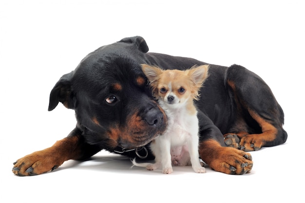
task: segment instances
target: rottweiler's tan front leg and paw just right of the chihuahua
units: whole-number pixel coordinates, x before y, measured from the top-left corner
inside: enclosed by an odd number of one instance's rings
[[[227,174],[249,173],[253,166],[249,153],[235,148],[223,147],[213,139],[200,141],[199,155],[212,169]]]

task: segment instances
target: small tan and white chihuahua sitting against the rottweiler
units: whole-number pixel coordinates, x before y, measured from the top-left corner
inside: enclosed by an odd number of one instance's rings
[[[196,173],[205,173],[199,161],[199,124],[193,100],[199,97],[209,66],[180,71],[142,64],[142,70],[151,83],[152,94],[168,117],[168,128],[151,143],[155,163],[136,163],[133,159],[133,165],[148,170],[162,166],[163,173],[172,173],[172,165],[191,165]]]

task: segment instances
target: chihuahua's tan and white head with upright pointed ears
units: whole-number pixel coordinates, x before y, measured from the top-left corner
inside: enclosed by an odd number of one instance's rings
[[[198,99],[200,88],[208,77],[209,65],[191,69],[162,70],[142,64],[142,70],[152,86],[152,94],[164,104],[178,107],[189,100]]]

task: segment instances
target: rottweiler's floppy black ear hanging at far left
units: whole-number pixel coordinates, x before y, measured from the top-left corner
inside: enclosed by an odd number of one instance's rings
[[[61,102],[68,109],[75,108],[74,93],[71,87],[71,78],[73,74],[74,72],[64,74],[58,80],[58,82],[50,93],[50,103],[48,111],[54,110],[57,107],[58,102]]]

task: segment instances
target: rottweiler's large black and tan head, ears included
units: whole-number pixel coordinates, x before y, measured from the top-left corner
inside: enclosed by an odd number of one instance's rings
[[[148,144],[166,129],[167,118],[141,71],[147,51],[142,37],[95,50],[59,79],[50,94],[49,111],[58,102],[74,109],[86,141],[102,148]]]

